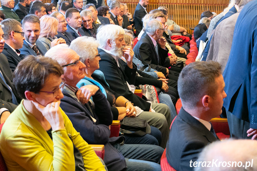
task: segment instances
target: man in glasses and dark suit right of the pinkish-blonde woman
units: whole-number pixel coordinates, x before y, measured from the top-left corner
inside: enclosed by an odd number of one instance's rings
[[[67,31],[67,22],[65,20],[65,17],[60,13],[60,12],[53,12],[51,17],[56,18],[59,23],[58,23],[58,29],[57,29],[57,38],[63,38],[66,41],[66,44],[70,46],[71,41],[74,40],[73,36],[71,33],[66,32]]]

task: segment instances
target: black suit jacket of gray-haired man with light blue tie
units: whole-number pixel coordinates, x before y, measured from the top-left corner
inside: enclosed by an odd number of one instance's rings
[[[151,68],[162,72],[166,75],[166,68],[169,68],[169,58],[168,58],[168,51],[160,48],[158,45],[158,52],[159,52],[159,60],[157,57],[157,53],[155,51],[155,47],[152,43],[151,38],[144,32],[141,39],[136,43],[133,51],[135,56],[142,61],[144,65],[148,64]]]

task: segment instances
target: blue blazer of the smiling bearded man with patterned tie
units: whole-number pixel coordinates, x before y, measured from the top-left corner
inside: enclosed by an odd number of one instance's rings
[[[47,52],[46,47],[40,41],[38,40],[36,41],[36,46],[42,55],[46,54]],[[33,49],[28,45],[28,43],[25,40],[23,42],[23,46],[20,49],[20,51],[21,51],[21,54],[23,55],[22,59],[27,55],[37,56],[36,52],[33,51]]]

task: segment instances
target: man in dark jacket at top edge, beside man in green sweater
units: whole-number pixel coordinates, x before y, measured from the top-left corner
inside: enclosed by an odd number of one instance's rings
[[[30,2],[30,0],[19,0],[19,3],[14,7],[14,12],[21,20],[23,20],[23,18],[29,14],[27,7],[30,6]]]

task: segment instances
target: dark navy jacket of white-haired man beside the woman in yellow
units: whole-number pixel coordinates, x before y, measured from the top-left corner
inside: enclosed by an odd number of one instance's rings
[[[67,114],[74,128],[80,132],[81,137],[89,144],[105,145],[104,162],[108,170],[120,171],[126,168],[125,158],[110,144],[110,142],[116,143],[117,140],[124,140],[124,137],[109,138],[108,126],[112,123],[113,116],[110,104],[101,90],[99,89],[92,96],[95,104],[93,113],[90,112],[89,105],[82,105],[78,102],[76,95],[68,92],[67,87],[64,88],[63,95],[60,107]],[[94,117],[96,122],[91,117]]]

